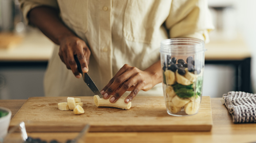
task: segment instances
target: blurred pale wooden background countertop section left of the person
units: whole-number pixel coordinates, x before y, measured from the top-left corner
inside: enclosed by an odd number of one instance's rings
[[[48,61],[51,57],[54,43],[39,30],[31,29],[18,36],[20,42],[0,48],[0,61]]]

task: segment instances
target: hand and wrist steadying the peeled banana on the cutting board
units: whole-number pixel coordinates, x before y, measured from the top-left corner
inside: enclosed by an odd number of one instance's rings
[[[131,91],[124,100],[125,103],[129,103],[138,94],[139,90],[148,91],[160,83],[161,77],[160,60],[144,71],[125,64],[101,90],[101,94],[104,99],[113,95],[109,101],[115,103],[124,92]]]

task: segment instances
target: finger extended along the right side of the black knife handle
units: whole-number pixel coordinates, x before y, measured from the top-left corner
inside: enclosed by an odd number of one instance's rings
[[[87,61],[86,61],[86,58],[85,58],[85,53],[83,51],[83,47],[81,44],[77,45],[77,49],[76,49],[76,55],[77,55],[77,58],[80,62],[80,65],[81,65],[81,69],[83,72],[88,72],[88,64],[87,64]]]

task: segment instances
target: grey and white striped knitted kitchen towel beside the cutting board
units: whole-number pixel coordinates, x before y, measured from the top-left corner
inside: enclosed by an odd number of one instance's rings
[[[256,94],[229,91],[223,99],[234,123],[256,123]]]

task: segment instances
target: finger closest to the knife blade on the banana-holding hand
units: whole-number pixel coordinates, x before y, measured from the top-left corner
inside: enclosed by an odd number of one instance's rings
[[[105,87],[103,87],[103,89],[101,90],[100,93],[103,95],[103,98],[104,98],[104,99],[108,99],[108,98],[109,98],[109,92],[106,93],[107,89],[111,86],[111,84],[115,81],[115,79],[116,79],[119,75],[123,74],[123,73],[126,71],[126,69],[128,68],[128,66],[129,66],[129,65],[125,64],[125,65],[116,73],[116,75],[108,82],[108,84],[107,84]]]

